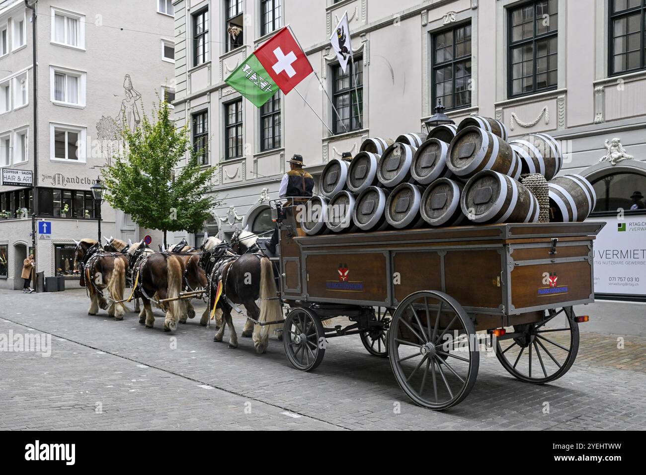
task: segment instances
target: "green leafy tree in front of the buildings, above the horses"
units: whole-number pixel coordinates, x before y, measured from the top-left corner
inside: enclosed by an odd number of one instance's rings
[[[189,127],[176,129],[169,104],[160,101],[152,120],[145,113],[140,125],[122,132],[123,152],[101,173],[110,206],[132,216],[139,226],[163,231],[195,232],[219,204],[210,185],[215,167],[202,169]],[[187,157],[187,163],[178,167]]]

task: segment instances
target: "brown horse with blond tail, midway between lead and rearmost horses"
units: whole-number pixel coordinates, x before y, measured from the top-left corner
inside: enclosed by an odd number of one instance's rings
[[[166,332],[175,330],[180,319],[186,321],[186,305],[179,299],[183,287],[182,260],[145,248],[143,240],[132,244],[128,254],[134,275],[134,294],[143,301],[139,322],[145,324],[146,328],[152,328],[155,319],[151,301],[154,301],[166,311],[163,329]]]

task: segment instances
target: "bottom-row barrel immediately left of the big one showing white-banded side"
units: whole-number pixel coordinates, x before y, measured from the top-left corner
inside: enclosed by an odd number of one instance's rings
[[[420,211],[422,218],[431,226],[459,226],[467,222],[460,206],[464,185],[438,178],[422,195]]]

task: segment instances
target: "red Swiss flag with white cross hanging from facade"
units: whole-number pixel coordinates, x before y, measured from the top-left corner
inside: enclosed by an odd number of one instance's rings
[[[284,94],[313,72],[309,59],[287,26],[255,50],[254,54]]]

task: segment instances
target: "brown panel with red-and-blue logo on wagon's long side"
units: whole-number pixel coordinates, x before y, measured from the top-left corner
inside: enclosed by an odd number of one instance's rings
[[[390,263],[386,251],[304,253],[307,298],[322,302],[390,302]]]

